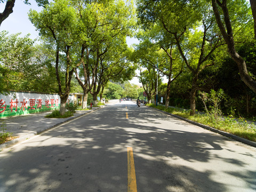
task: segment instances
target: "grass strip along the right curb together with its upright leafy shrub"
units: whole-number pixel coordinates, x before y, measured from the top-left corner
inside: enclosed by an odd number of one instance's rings
[[[218,91],[211,90],[210,93],[199,92],[199,95],[199,99],[201,99],[204,104],[205,113],[196,113],[194,116],[190,115],[190,110],[182,110],[181,108],[177,107],[166,108],[162,105],[149,106],[221,131],[237,135],[238,137],[256,141],[256,125],[254,122],[248,123],[245,118],[235,118],[233,115],[222,115],[220,106],[221,102],[225,100],[225,93],[222,89],[219,89]]]

